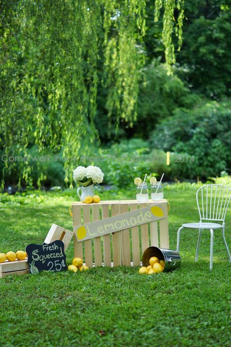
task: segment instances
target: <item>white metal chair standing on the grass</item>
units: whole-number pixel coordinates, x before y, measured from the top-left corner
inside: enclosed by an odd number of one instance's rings
[[[231,262],[229,247],[225,239],[225,217],[230,201],[231,188],[227,185],[208,184],[200,187],[196,192],[196,204],[199,211],[200,222],[182,224],[182,226],[177,231],[176,251],[179,252],[180,249],[180,231],[183,228],[199,229],[199,236],[195,255],[195,262],[197,262],[201,240],[201,231],[202,229],[210,229],[210,270],[212,270],[213,230],[222,228],[223,241],[225,244],[226,251],[228,253],[229,262]],[[210,221],[217,223],[211,223]]]

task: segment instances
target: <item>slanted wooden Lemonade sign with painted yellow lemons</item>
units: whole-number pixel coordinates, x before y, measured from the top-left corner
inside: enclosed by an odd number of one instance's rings
[[[74,232],[76,233],[77,241],[85,241],[163,218],[165,218],[165,215],[162,206],[160,204],[150,205],[100,221],[75,226]]]

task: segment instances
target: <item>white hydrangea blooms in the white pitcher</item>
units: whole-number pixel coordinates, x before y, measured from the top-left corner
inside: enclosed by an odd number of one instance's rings
[[[102,183],[103,172],[98,166],[77,166],[77,168],[73,171],[73,178],[77,184],[83,187],[88,187],[92,184]]]

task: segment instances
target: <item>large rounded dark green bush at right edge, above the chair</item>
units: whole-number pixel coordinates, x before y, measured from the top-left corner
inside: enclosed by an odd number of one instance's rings
[[[183,178],[220,175],[231,166],[231,101],[209,102],[193,110],[177,109],[157,125],[150,145],[193,157],[185,160]],[[173,162],[172,172],[177,172]]]

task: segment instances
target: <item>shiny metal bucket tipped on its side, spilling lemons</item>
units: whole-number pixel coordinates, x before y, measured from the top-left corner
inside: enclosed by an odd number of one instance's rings
[[[172,271],[177,267],[180,267],[181,264],[181,258],[179,253],[172,249],[164,249],[154,246],[148,247],[147,249],[145,249],[142,256],[143,266],[150,265],[149,259],[151,257],[157,257],[159,260],[165,261],[164,271]]]

